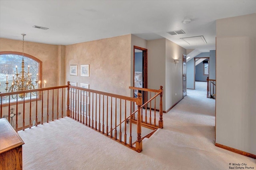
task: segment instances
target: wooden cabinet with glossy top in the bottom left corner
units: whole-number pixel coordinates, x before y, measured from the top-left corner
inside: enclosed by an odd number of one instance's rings
[[[0,119],[0,170],[22,170],[23,144],[7,119]]]

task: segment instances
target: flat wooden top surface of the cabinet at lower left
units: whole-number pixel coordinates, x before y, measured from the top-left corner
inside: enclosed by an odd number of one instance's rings
[[[7,119],[0,119],[0,154],[23,145],[24,142]]]

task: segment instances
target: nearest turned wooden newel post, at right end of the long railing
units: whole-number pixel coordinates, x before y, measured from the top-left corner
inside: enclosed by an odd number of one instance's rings
[[[136,98],[136,105],[138,106],[138,118],[137,118],[137,141],[136,141],[136,151],[142,151],[142,140],[141,140],[141,104],[142,97],[141,93],[138,93],[138,97]]]

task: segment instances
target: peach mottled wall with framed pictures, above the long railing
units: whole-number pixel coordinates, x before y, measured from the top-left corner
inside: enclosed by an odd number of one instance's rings
[[[66,82],[89,84],[89,88],[130,96],[131,35],[66,46]],[[70,64],[78,65],[78,76],[70,75]],[[90,64],[90,76],[80,76],[80,65]]]

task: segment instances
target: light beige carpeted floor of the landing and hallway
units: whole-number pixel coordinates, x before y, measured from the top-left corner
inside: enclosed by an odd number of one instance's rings
[[[19,131],[25,142],[23,169],[228,170],[230,163],[256,169],[255,159],[214,146],[214,107],[205,92],[188,90],[164,113],[164,129],[143,140],[141,153],[68,117]]]

